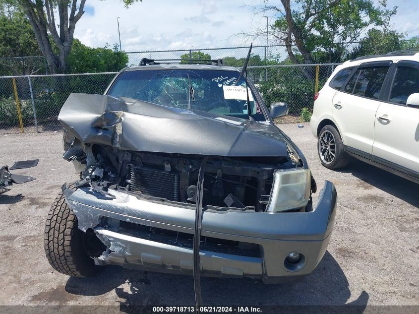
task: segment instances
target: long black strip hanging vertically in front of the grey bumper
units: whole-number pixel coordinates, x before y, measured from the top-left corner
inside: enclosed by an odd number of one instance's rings
[[[195,210],[195,230],[193,234],[193,284],[195,290],[195,304],[197,313],[199,307],[202,305],[201,294],[201,267],[199,258],[199,244],[201,240],[201,223],[202,223],[202,199],[204,191],[204,173],[205,166],[208,161],[208,156],[204,157],[199,167],[198,182],[196,191],[196,210]]]

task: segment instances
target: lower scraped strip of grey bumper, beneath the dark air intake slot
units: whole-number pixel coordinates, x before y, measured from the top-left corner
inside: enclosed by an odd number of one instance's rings
[[[111,252],[105,252],[99,260],[128,268],[152,267],[191,274],[192,250],[164,243],[123,235],[104,228],[95,229],[97,237]],[[254,277],[263,274],[262,258],[200,251],[200,268],[205,275],[217,277]]]

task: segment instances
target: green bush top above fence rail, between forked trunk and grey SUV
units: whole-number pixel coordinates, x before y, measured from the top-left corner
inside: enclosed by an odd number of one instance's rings
[[[112,72],[119,71],[128,63],[128,55],[120,52],[119,46],[110,49],[106,44],[103,48],[91,48],[74,39],[71,52],[67,58],[68,72]]]

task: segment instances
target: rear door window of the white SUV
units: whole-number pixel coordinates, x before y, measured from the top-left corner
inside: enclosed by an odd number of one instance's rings
[[[388,66],[361,67],[351,77],[345,91],[372,99],[378,99]]]

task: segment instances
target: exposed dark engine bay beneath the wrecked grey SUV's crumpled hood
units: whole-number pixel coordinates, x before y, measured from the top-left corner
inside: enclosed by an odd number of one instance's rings
[[[68,144],[64,141],[67,148]],[[64,154],[65,159],[81,166],[80,170],[85,168],[78,186],[90,184],[104,193],[112,188],[155,201],[196,204],[204,156],[126,151],[98,144],[85,144],[84,149],[77,150],[81,146],[73,139]],[[295,167],[290,156],[210,156],[204,172],[203,206],[265,211],[274,171]]]

